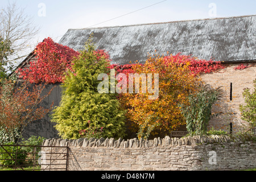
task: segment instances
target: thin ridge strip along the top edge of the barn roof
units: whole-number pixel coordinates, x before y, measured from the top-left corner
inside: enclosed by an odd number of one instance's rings
[[[106,27],[87,27],[87,28],[69,28],[68,30],[88,30],[88,29],[100,29],[100,28],[115,28],[115,27],[132,27],[132,26],[143,26],[147,24],[165,24],[165,23],[175,23],[175,22],[193,22],[193,21],[200,21],[200,20],[215,20],[215,19],[231,19],[231,18],[244,18],[249,16],[256,16],[256,15],[241,15],[241,16],[227,16],[227,17],[220,17],[220,18],[203,18],[203,19],[191,19],[191,20],[176,20],[170,22],[158,22],[158,23],[138,23],[138,24],[128,24],[123,26],[106,26]]]

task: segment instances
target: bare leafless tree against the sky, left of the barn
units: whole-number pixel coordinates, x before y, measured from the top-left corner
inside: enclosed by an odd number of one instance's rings
[[[26,57],[32,51],[30,44],[39,27],[16,3],[9,3],[0,10],[0,65],[13,65],[16,60]],[[9,71],[9,70],[6,70]]]

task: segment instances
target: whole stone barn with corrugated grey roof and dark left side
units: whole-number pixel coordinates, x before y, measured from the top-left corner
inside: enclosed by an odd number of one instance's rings
[[[137,60],[144,63],[148,53],[155,51],[159,55],[181,53],[222,61],[225,69],[201,75],[207,84],[214,88],[222,86],[225,92],[225,99],[213,108],[218,117],[211,119],[209,127],[237,133],[246,125],[239,105],[244,103],[243,89],[252,89],[256,78],[256,15],[69,29],[59,43],[79,51],[84,49],[92,33],[96,48],[108,51],[113,64],[130,64]],[[33,52],[18,68],[28,67],[30,61],[36,61]],[[61,88],[60,84],[56,85],[45,104],[53,99],[56,106],[59,104]],[[31,123],[26,138],[30,135],[57,137],[49,119]]]

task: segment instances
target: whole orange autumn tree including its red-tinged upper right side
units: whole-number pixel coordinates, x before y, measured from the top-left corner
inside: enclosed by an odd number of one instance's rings
[[[156,80],[154,74],[158,74],[159,78],[158,97],[154,100],[148,99],[153,94],[148,93],[147,89],[146,93],[142,93],[142,79],[139,93],[122,93],[120,97],[123,107],[127,109],[126,117],[133,123],[132,129],[138,131],[138,138],[146,139],[150,134],[164,134],[185,125],[178,104],[188,105],[189,93],[198,89],[200,78],[197,75],[215,71],[220,67],[214,61],[198,60],[179,54],[151,56],[145,64],[135,64],[134,73],[145,73],[146,77],[150,75],[148,73],[152,74],[153,87]]]

